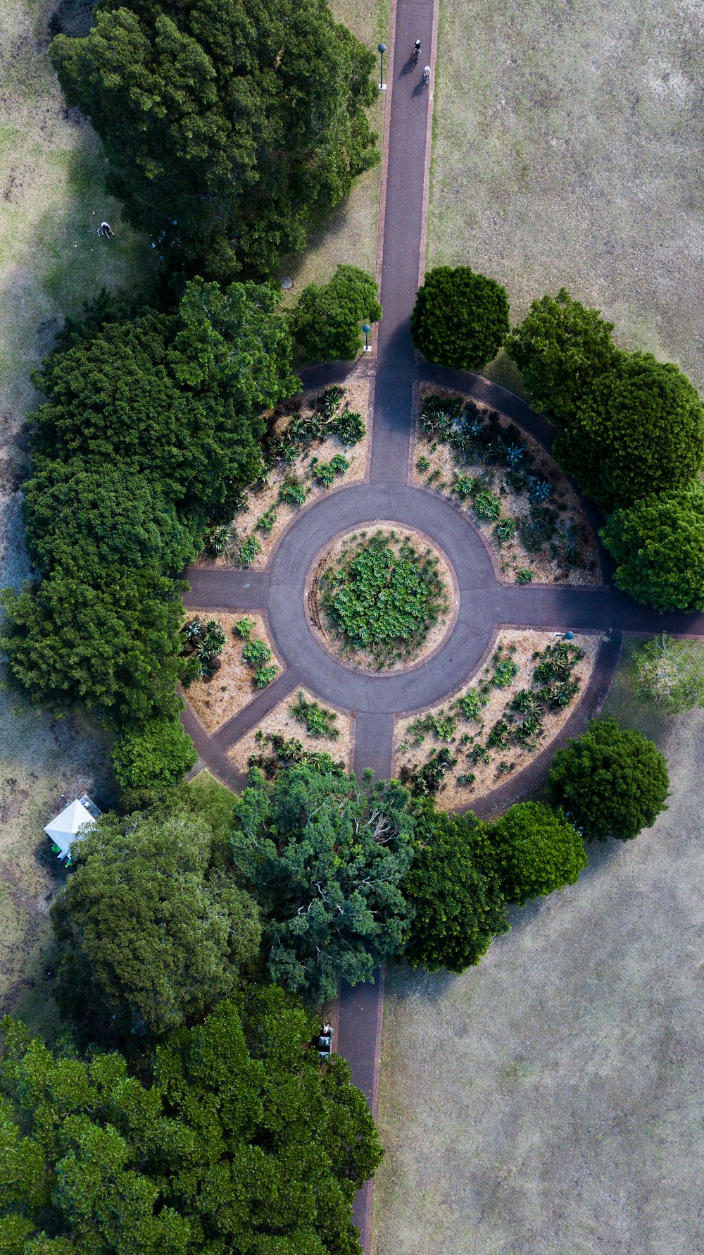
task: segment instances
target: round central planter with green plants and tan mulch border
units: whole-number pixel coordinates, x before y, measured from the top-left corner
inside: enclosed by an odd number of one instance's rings
[[[309,624],[345,666],[368,674],[409,670],[452,630],[457,579],[425,533],[374,521],[335,536],[316,556],[305,589]]]

